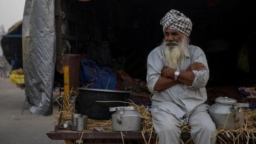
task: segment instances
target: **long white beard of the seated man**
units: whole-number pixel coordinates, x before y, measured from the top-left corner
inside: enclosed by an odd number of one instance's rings
[[[165,40],[162,42],[162,47],[164,48],[164,55],[165,59],[169,65],[170,68],[177,69],[178,68],[178,62],[182,59],[184,56],[184,51],[187,49],[187,43],[188,40],[185,38],[182,38],[181,42],[172,42],[176,45],[168,46],[168,42],[165,42]]]

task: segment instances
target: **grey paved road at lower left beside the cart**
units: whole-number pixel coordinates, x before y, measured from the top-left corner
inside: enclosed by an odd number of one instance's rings
[[[0,144],[65,144],[46,135],[54,130],[52,116],[36,116],[28,109],[21,114],[24,99],[24,90],[0,78]],[[54,112],[57,110],[54,104]]]

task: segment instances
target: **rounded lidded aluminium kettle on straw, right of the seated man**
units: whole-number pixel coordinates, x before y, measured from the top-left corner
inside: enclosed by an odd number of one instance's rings
[[[218,97],[215,104],[210,106],[209,114],[216,125],[221,129],[239,129],[244,125],[243,108],[249,104],[236,103],[228,97]]]

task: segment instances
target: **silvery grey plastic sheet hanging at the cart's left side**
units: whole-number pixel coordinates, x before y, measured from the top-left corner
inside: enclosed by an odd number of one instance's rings
[[[56,57],[54,0],[26,0],[22,49],[30,111],[39,116],[50,116]]]

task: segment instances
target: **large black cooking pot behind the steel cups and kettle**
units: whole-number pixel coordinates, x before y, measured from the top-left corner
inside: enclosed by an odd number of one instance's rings
[[[106,89],[78,88],[77,111],[82,115],[88,115],[91,119],[109,120],[111,112],[109,107],[126,106],[122,102],[128,102],[129,91],[116,91]],[[95,101],[121,101],[121,102],[95,102]]]

